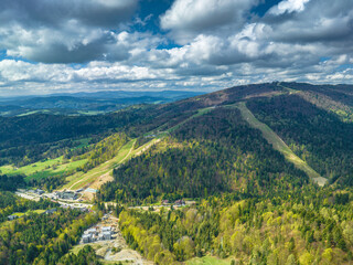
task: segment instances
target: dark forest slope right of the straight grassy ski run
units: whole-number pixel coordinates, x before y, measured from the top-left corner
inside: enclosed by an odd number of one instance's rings
[[[331,182],[353,184],[353,124],[299,96],[252,100],[249,109]]]

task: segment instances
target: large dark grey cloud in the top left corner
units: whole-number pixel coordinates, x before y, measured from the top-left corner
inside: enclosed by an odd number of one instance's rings
[[[138,0],[4,0],[0,46],[10,56],[44,63],[104,60],[116,45],[111,29],[128,21],[137,3]],[[128,54],[124,52],[114,59],[126,59]]]

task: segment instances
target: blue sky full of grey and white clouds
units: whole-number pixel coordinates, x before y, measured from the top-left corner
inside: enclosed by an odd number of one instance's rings
[[[0,0],[0,96],[353,83],[352,0]]]

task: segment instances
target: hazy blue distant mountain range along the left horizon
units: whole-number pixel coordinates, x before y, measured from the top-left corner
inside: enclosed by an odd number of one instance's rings
[[[161,91],[64,93],[45,96],[0,97],[0,115],[18,116],[33,113],[103,114],[136,104],[163,104],[202,95],[202,92]]]

